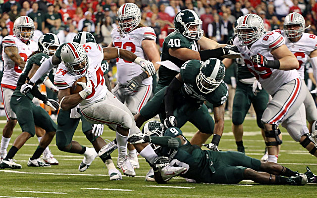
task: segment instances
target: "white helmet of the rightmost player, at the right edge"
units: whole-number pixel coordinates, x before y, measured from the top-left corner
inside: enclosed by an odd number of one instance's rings
[[[300,28],[298,30],[288,30],[288,25],[300,25]],[[284,19],[283,25],[283,30],[287,38],[300,37],[303,35],[305,29],[305,19],[301,14],[297,12],[287,14],[287,16]]]

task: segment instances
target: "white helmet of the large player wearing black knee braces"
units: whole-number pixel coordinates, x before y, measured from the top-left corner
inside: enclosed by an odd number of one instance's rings
[[[247,14],[238,20],[236,28],[240,44],[249,46],[258,41],[264,33],[264,23],[262,18],[256,14]]]

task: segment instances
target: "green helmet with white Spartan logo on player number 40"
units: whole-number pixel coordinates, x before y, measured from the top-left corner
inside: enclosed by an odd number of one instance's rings
[[[203,37],[204,30],[200,28],[203,21],[199,16],[190,9],[185,9],[178,12],[174,18],[175,29],[192,40],[200,40]],[[197,30],[189,30],[190,26],[197,26]]]

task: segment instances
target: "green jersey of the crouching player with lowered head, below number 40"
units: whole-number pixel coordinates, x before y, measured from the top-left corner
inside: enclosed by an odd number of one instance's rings
[[[203,104],[207,100],[213,106],[220,106],[228,98],[227,86],[222,82],[213,92],[208,94],[202,93],[196,83],[196,77],[200,72],[202,63],[203,61],[200,60],[188,60],[182,65],[180,75],[184,81],[184,86],[180,91],[191,102],[195,99],[197,103]]]

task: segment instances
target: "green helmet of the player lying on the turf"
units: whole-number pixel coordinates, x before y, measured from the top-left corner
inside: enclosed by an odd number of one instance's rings
[[[145,136],[161,137],[163,136],[163,133],[164,133],[164,126],[159,121],[152,120],[145,123],[142,129],[142,133]],[[159,150],[161,148],[160,146],[154,145],[152,143],[150,143],[150,145],[154,150]]]

